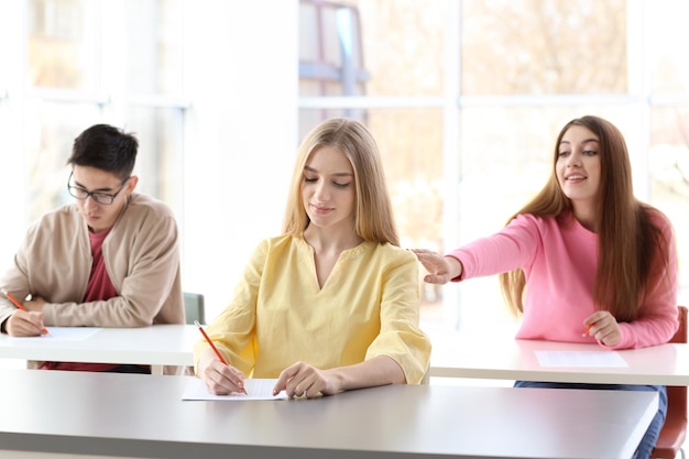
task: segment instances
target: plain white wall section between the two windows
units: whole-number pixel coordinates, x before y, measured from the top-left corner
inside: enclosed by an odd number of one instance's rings
[[[297,8],[186,3],[183,282],[206,295],[207,320],[230,300],[253,247],[281,231],[298,142]]]

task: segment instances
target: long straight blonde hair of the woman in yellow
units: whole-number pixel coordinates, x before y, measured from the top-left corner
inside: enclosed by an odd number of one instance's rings
[[[367,241],[400,245],[375,140],[363,124],[346,118],[322,121],[311,129],[299,145],[289,185],[283,231],[302,237],[310,222],[302,201],[304,167],[311,154],[325,145],[335,146],[344,153],[354,171],[357,234]]]

